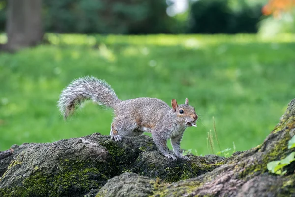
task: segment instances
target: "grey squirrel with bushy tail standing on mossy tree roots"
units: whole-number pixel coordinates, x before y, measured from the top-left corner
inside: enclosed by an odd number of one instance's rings
[[[110,131],[112,140],[121,141],[121,136],[138,136],[143,132],[150,132],[165,157],[190,160],[187,156],[182,156],[180,141],[187,127],[197,126],[198,115],[194,107],[188,105],[187,98],[185,104],[180,105],[172,99],[172,108],[157,98],[143,97],[122,101],[104,80],[83,77],[74,80],[62,91],[58,107],[66,119],[86,99],[114,109],[115,117]],[[171,139],[174,154],[169,153],[168,139]]]

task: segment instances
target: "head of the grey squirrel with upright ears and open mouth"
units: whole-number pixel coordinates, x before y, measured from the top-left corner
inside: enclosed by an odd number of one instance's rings
[[[188,99],[185,99],[184,104],[177,104],[176,99],[171,100],[172,111],[177,116],[177,122],[184,123],[186,126],[197,127],[196,121],[198,119],[198,115],[196,114],[195,108],[193,106],[188,105]]]

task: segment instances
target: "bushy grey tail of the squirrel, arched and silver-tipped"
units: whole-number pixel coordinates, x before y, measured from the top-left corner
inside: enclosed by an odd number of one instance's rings
[[[83,77],[70,83],[59,96],[58,107],[67,118],[84,100],[92,99],[99,105],[114,108],[119,102],[116,93],[104,80]]]

